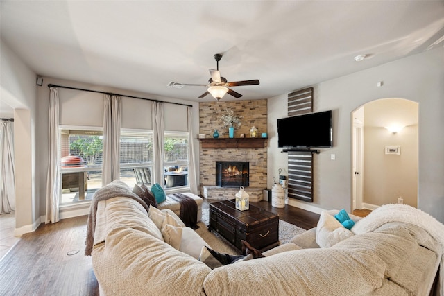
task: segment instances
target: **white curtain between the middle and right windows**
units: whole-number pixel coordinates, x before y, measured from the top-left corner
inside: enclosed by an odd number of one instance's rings
[[[154,183],[164,184],[164,105],[162,102],[151,103],[154,141]]]

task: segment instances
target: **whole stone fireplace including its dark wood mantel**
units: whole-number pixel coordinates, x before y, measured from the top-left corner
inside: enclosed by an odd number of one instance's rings
[[[242,116],[242,125],[236,128],[234,139],[229,139],[228,128],[220,123],[220,114],[231,108]],[[199,139],[200,195],[204,198],[229,200],[235,198],[240,186],[216,185],[216,162],[248,162],[248,186],[244,186],[250,195],[250,201],[262,200],[266,189],[267,139],[250,138],[250,128],[255,126],[259,136],[267,132],[267,101],[224,101],[199,103]],[[219,139],[213,139],[214,129],[219,132]],[[241,137],[244,134],[244,138]]]

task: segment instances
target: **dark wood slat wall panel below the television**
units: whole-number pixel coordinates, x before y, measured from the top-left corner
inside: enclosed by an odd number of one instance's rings
[[[289,151],[289,198],[313,202],[313,154]]]

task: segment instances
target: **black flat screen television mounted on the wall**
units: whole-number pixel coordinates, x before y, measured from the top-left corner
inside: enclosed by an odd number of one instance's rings
[[[332,147],[332,111],[278,119],[279,148]]]

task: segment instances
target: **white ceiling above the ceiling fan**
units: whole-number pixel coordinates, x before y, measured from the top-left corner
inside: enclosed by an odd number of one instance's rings
[[[260,80],[233,87],[259,99],[443,46],[443,36],[444,1],[1,0],[1,39],[37,75],[191,101],[214,99],[167,84],[207,83],[215,53],[228,81]]]

